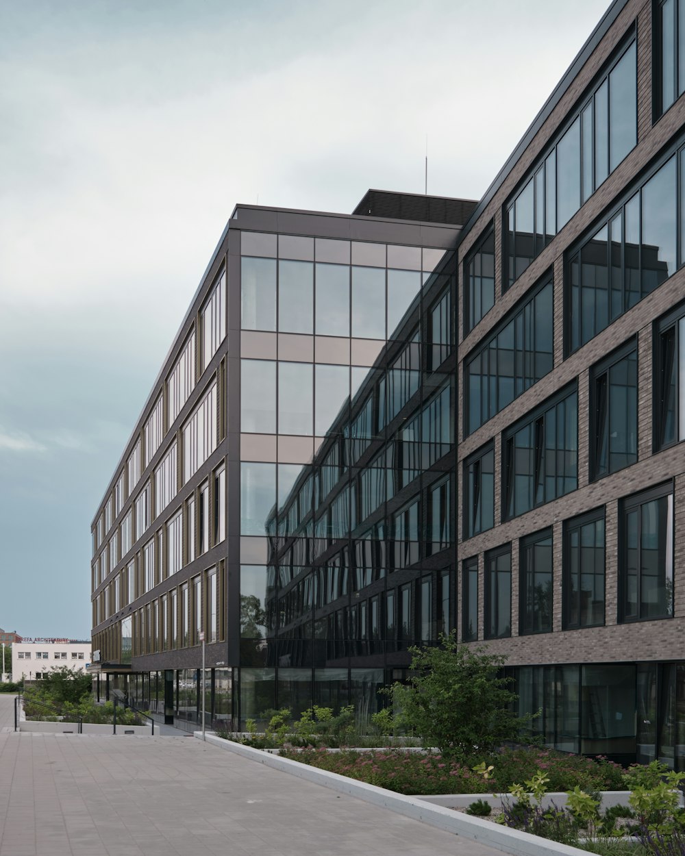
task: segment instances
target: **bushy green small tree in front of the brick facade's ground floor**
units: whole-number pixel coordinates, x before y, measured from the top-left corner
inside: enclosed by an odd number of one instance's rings
[[[441,634],[439,647],[410,648],[414,674],[391,693],[402,720],[424,746],[463,758],[516,740],[530,716],[516,716],[512,678],[501,675],[506,657],[485,648],[457,645],[456,632]]]

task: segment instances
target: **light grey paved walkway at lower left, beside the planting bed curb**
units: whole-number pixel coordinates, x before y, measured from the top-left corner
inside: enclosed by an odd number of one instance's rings
[[[499,856],[201,740],[0,733],[0,856],[227,853]]]

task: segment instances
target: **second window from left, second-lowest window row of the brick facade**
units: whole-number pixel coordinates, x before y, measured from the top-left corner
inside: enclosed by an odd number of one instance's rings
[[[578,487],[578,395],[568,389],[503,434],[503,514],[525,514]]]

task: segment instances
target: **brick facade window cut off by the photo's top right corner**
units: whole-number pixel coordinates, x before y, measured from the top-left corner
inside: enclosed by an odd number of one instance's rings
[[[661,116],[685,92],[685,2],[661,0],[656,4],[654,55],[654,115]]]

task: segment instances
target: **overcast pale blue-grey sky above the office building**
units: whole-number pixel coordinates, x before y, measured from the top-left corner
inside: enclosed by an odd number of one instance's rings
[[[607,0],[0,0],[0,627],[90,523],[237,202],[479,199]],[[150,319],[154,323],[150,325]]]

